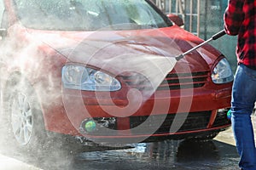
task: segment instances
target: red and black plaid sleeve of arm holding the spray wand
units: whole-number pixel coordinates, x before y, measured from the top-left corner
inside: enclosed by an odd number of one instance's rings
[[[227,34],[236,36],[244,20],[242,7],[244,0],[230,0],[224,13],[224,29]]]

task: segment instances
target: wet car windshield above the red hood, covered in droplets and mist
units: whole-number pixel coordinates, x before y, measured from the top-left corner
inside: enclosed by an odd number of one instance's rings
[[[14,0],[20,22],[60,31],[131,30],[172,26],[149,0]]]

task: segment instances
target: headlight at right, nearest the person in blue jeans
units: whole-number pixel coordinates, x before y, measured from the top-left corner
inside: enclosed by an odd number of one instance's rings
[[[232,82],[233,72],[227,59],[221,59],[212,71],[212,82],[222,84]]]

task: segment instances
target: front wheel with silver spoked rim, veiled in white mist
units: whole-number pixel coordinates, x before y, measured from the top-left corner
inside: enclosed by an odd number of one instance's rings
[[[42,149],[46,139],[44,118],[32,86],[15,75],[6,89],[7,138],[22,151]]]

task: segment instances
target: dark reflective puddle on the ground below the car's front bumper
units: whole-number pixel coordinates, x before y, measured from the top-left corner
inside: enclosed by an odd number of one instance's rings
[[[73,169],[236,169],[236,148],[218,141],[167,140],[135,144],[131,149],[84,152]]]

